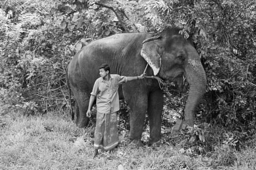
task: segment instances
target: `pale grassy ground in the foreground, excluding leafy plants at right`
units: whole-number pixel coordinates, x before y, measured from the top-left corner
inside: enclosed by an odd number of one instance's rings
[[[1,114],[0,114],[1,115]],[[92,127],[77,128],[66,114],[58,112],[24,116],[14,111],[0,116],[0,169],[254,169],[256,150],[234,151],[234,163],[221,166],[227,150],[214,158],[189,156],[165,143],[159,148],[134,148],[128,133],[112,153],[92,158]],[[211,154],[212,156],[213,154]],[[216,161],[218,160],[218,161]]]

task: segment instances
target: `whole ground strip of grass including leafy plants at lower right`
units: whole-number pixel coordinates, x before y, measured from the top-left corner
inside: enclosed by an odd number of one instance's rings
[[[129,130],[120,126],[119,147],[112,152],[100,151],[95,159],[91,135],[94,125],[78,128],[66,112],[24,115],[9,110],[0,116],[0,124],[0,169],[199,170],[256,166],[255,136],[243,145],[235,132],[209,124],[195,126],[176,137],[163,135],[160,147],[150,147],[145,141],[143,148],[129,145]]]

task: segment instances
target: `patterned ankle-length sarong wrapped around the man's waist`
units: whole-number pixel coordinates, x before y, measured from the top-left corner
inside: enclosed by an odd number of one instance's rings
[[[95,149],[112,150],[118,144],[117,112],[101,114],[97,112],[94,135]]]

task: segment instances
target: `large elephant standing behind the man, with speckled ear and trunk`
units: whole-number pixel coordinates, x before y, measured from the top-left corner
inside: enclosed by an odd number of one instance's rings
[[[166,81],[189,84],[184,109],[186,125],[194,125],[196,108],[206,90],[206,75],[191,38],[172,27],[159,33],[122,33],[95,40],[83,47],[70,61],[66,70],[68,92],[76,100],[76,125],[85,127],[88,101],[99,66],[107,63],[111,74],[125,76],[157,76]],[[156,79],[144,78],[119,86],[119,97],[130,107],[130,141],[141,146],[141,135],[147,114],[150,126],[149,145],[161,140],[161,114],[164,97]],[[72,112],[72,111],[71,111]],[[72,119],[74,114],[72,112]]]

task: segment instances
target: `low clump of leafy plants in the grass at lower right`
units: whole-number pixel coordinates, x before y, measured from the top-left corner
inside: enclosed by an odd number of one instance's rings
[[[165,136],[164,140],[165,143],[180,148],[180,153],[186,156],[201,155],[202,161],[213,168],[232,166],[237,162],[237,156],[242,154],[243,150],[255,147],[255,135],[229,131],[228,128],[209,123],[201,123],[194,127],[188,126],[185,130],[181,130],[179,135]]]

